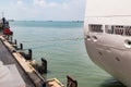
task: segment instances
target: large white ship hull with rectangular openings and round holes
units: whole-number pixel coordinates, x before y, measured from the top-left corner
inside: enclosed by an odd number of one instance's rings
[[[84,23],[87,53],[98,66],[131,87],[131,15],[129,15],[131,10],[124,8],[124,4],[131,3],[131,1],[121,0],[121,2],[126,2],[121,5],[124,14],[118,11],[119,7],[112,10],[116,13],[106,13],[107,9],[110,11],[109,4],[105,11],[99,8],[94,9],[92,1],[96,1],[95,4],[98,5],[98,1],[104,0],[88,0],[87,2],[90,7],[86,7]],[[114,2],[114,0],[111,1]],[[97,9],[102,12],[96,11]]]

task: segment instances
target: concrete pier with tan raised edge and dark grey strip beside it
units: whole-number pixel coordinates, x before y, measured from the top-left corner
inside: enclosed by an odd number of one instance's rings
[[[57,79],[44,79],[41,75],[33,67],[31,61],[27,61],[12,44],[0,35],[0,60],[4,65],[15,64],[26,87],[63,87]]]

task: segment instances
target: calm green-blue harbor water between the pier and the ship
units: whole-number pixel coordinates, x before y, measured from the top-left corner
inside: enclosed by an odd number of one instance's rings
[[[57,77],[66,85],[67,75],[78,80],[79,87],[122,87],[96,66],[88,58],[83,39],[83,22],[10,22],[13,38],[24,49],[33,50],[33,59],[48,61],[46,78]]]

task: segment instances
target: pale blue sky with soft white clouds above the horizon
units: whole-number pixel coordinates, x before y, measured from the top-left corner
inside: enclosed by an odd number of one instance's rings
[[[17,21],[83,21],[86,0],[1,0],[0,11]],[[0,15],[1,16],[1,15]]]

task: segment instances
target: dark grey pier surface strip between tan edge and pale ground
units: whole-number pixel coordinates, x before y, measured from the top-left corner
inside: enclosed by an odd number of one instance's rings
[[[15,66],[17,67],[24,83],[26,84],[26,87],[35,87],[34,83],[31,80],[31,78],[27,76],[27,74],[23,71],[23,69],[20,66],[20,64],[13,58],[11,52],[3,45],[1,39],[0,39],[0,60],[3,62],[4,65],[15,64]]]

